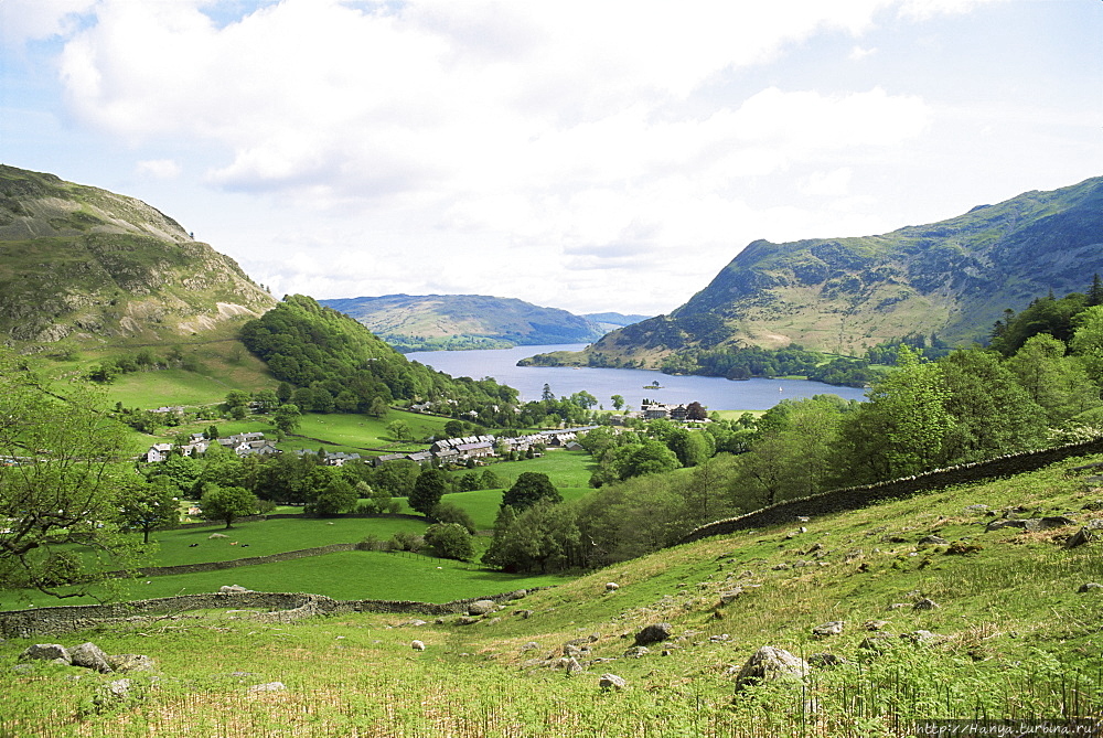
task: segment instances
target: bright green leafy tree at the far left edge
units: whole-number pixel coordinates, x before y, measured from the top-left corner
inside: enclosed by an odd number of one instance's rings
[[[77,597],[136,564],[115,494],[133,480],[136,449],[106,408],[100,393],[50,386],[0,350],[0,589]]]

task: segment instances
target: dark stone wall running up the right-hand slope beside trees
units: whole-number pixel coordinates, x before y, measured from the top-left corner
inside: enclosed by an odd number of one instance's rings
[[[1014,477],[1072,457],[1103,453],[1103,439],[999,457],[990,461],[936,469],[915,477],[906,477],[878,484],[850,486],[822,492],[797,500],[786,500],[746,515],[708,523],[692,531],[679,543],[690,543],[736,531],[793,524],[797,517],[815,517],[859,510],[881,500],[901,500],[933,492],[955,484],[970,484],[988,479]]]

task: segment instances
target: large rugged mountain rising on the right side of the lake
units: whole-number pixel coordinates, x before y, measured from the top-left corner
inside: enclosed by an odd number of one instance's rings
[[[1005,309],[1083,292],[1094,272],[1103,272],[1103,178],[879,236],[757,240],[670,315],[557,360],[654,367],[687,351],[790,344],[860,354],[908,334],[970,344]]]

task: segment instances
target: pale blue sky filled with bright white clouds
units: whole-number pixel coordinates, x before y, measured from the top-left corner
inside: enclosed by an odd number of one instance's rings
[[[666,313],[1103,174],[1100,0],[0,0],[0,162],[274,295]]]

